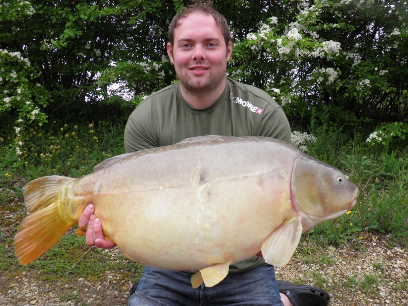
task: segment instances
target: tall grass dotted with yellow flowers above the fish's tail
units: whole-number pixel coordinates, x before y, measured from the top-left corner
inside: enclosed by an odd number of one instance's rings
[[[21,156],[23,160],[8,155],[7,146],[0,149],[0,166],[9,173],[3,175],[10,181],[21,172],[27,180],[54,174],[85,175],[97,163],[124,153],[124,123],[124,119],[116,124],[106,121],[75,125],[54,122],[48,125],[48,129],[31,128],[27,132],[30,141]]]

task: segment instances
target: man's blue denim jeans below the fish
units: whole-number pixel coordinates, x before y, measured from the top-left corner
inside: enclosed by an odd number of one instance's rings
[[[145,267],[129,306],[283,306],[270,265],[228,273],[214,287],[191,287],[193,273]]]

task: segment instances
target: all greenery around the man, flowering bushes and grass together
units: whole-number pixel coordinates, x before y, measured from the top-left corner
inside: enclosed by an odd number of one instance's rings
[[[25,215],[22,186],[43,175],[79,177],[121,154],[127,115],[144,96],[174,82],[166,31],[173,14],[189,3],[0,3],[2,271],[28,269],[16,265],[12,247],[16,224]],[[407,247],[405,1],[214,3],[233,35],[228,75],[273,96],[288,115],[298,145],[343,169],[361,190],[348,214],[303,237],[327,245],[359,241],[362,231],[380,232],[390,244]],[[53,279],[84,273],[97,278],[108,261],[96,249],[66,274],[85,248],[69,233],[33,265]],[[140,274],[140,266],[122,257],[114,261],[114,268],[136,278]],[[361,287],[370,291],[376,281],[364,277],[367,285]],[[356,282],[348,280],[350,286]]]

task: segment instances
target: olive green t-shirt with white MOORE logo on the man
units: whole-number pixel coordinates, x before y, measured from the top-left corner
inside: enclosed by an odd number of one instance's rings
[[[227,78],[224,92],[207,109],[189,106],[179,83],[148,96],[127,120],[124,145],[130,153],[203,135],[265,136],[290,143],[291,130],[282,108],[266,92]],[[263,263],[253,256],[231,265],[230,271]]]

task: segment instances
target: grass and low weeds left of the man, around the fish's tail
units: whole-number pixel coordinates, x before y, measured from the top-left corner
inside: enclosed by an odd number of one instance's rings
[[[18,264],[14,256],[13,238],[18,224],[25,217],[22,187],[44,175],[80,177],[106,158],[122,154],[123,124],[57,124],[48,130],[38,129],[27,135],[24,155],[13,157],[11,147],[0,147],[0,270],[13,277],[23,271],[36,269],[39,280],[69,281],[84,277],[95,281],[105,271],[122,271],[123,277],[136,281],[143,267],[125,259],[120,252],[89,249],[84,237],[70,230],[38,260],[27,266]],[[11,141],[10,141],[11,143]],[[84,255],[85,254],[85,255]],[[67,300],[75,300],[68,296]]]

